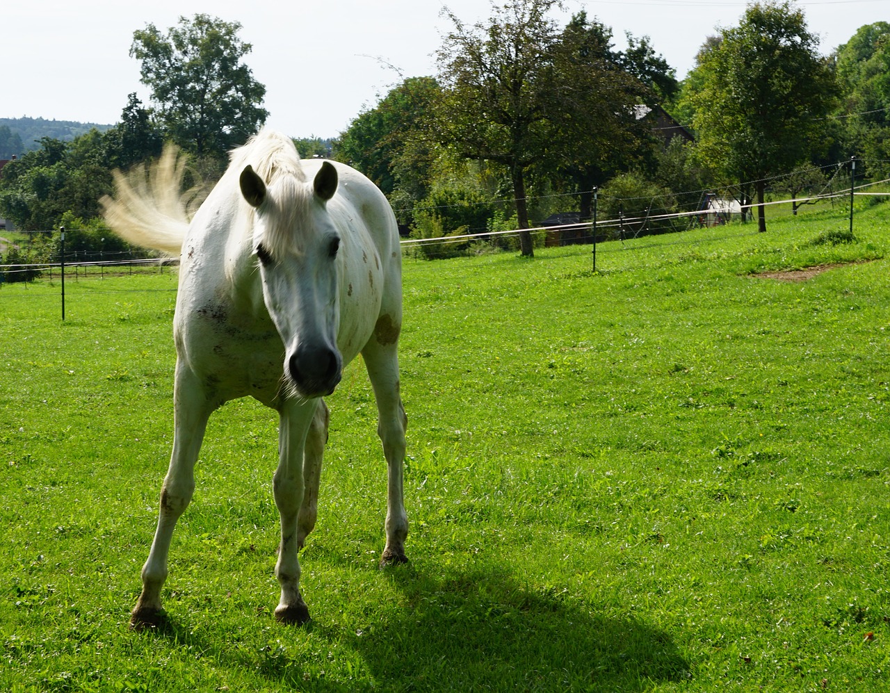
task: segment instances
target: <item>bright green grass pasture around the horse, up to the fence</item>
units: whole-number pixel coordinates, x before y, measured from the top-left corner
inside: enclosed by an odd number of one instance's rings
[[[890,204],[407,259],[408,566],[360,364],[313,621],[278,625],[277,417],[211,419],[166,628],[133,633],[175,275],[0,288],[0,690],[890,689]],[[754,277],[838,263],[805,281]]]

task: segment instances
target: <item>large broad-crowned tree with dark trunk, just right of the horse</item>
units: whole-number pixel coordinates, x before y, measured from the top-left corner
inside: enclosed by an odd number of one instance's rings
[[[560,31],[548,13],[557,0],[506,0],[487,23],[454,28],[439,51],[444,96],[439,137],[468,158],[506,168],[516,217],[528,229],[527,182],[532,172],[603,171],[609,157],[640,132],[635,105],[649,90],[611,52],[608,31],[582,12]],[[641,75],[657,71],[648,41],[628,63]],[[583,203],[583,200],[582,200]],[[533,254],[528,231],[522,254]]]

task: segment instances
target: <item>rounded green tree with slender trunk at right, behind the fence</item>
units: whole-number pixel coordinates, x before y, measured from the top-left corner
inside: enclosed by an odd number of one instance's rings
[[[765,231],[766,181],[824,143],[836,83],[804,13],[787,1],[749,5],[740,25],[724,29],[721,38],[697,68],[699,149],[713,165],[753,185],[758,230]]]

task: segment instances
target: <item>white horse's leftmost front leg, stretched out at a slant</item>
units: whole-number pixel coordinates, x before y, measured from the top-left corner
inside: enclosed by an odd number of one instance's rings
[[[213,405],[190,368],[176,364],[174,383],[174,442],[170,467],[161,488],[158,528],[151,542],[149,559],[142,567],[142,594],[130,617],[139,630],[161,622],[161,588],[167,576],[167,555],[176,520],[191,501],[195,490],[195,461],[204,439],[207,419]]]

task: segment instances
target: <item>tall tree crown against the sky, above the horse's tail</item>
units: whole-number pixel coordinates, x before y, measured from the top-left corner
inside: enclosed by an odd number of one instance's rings
[[[153,24],[134,31],[131,57],[142,60],[142,83],[158,102],[169,136],[198,156],[223,156],[265,122],[265,86],[242,58],[253,48],[241,25],[206,14],[180,17],[166,34]]]

